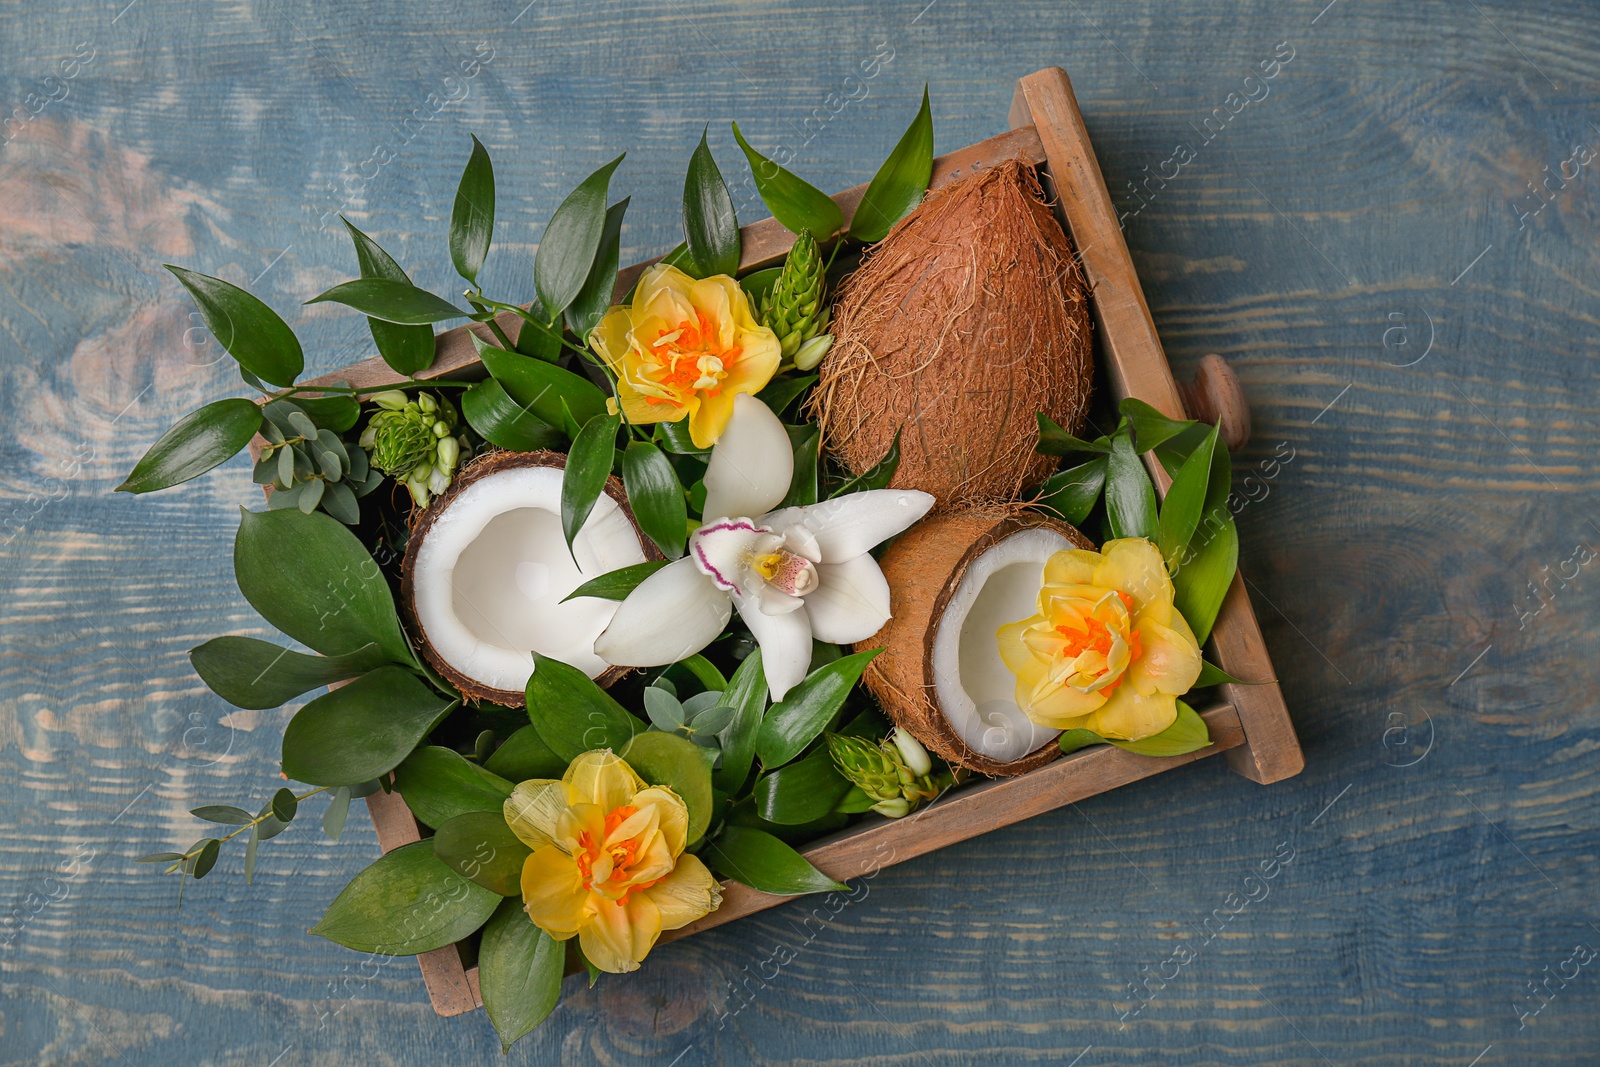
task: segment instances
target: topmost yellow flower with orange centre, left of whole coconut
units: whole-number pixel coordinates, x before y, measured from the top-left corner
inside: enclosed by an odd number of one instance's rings
[[[696,448],[722,437],[733,398],[760,392],[782,357],[738,282],[694,280],[667,264],[645,272],[632,306],[605,314],[589,347],[616,376],[613,414],[619,400],[629,422],[688,419]]]

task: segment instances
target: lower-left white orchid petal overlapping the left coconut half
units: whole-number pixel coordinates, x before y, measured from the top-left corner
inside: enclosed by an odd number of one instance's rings
[[[728,625],[728,593],[683,557],[638,584],[595,640],[595,656],[622,667],[664,667],[717,640]]]

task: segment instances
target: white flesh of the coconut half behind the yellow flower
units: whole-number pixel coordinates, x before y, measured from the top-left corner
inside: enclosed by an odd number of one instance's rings
[[[1038,726],[1016,704],[1016,675],[995,632],[1038,613],[1045,561],[1072,541],[1046,526],[1021,530],[966,566],[933,637],[934,696],[950,728],[978,755],[1021,760],[1061,731]]]

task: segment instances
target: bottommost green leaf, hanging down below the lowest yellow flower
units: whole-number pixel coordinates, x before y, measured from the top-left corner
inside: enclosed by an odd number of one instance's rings
[[[478,947],[483,1011],[494,1024],[502,1053],[555,1011],[565,973],[566,942],[534,926],[520,901],[502,902],[483,928]]]

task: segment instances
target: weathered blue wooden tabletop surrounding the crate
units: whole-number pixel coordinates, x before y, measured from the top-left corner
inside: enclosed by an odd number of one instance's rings
[[[267,632],[232,579],[243,462],[110,493],[242,392],[160,264],[250,285],[326,371],[368,349],[299,307],[355,274],[336,214],[453,291],[469,133],[499,176],[486,288],[526,293],[618,150],[630,261],[678,240],[706,123],[730,174],[738,118],[842,189],[923,83],[947,150],[1050,64],[1179,376],[1221,352],[1250,394],[1242,561],[1306,773],[1208,760],[827,921],[664,947],[574,982],[509,1062],[1600,1061],[1592,5],[125,2],[0,10],[0,1064],[501,1062],[411,960],[304,933],[370,825],[296,824],[254,886],[230,853],[181,909],[133,864],[195,840],[190,806],[259,805],[290,713],[230,713],[186,656]]]

